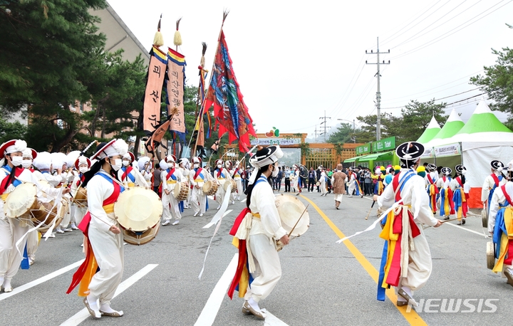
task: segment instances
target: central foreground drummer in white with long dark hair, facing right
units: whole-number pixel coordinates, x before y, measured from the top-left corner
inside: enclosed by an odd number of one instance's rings
[[[255,167],[252,179],[247,188],[247,207],[251,210],[252,221],[249,235],[246,238],[248,248],[249,272],[254,278],[244,295],[244,314],[253,314],[265,318],[266,313],[260,310],[259,301],[267,298],[281,278],[281,264],[276,251],[276,240],[284,245],[289,243],[289,236],[281,226],[281,219],[276,209],[274,193],[268,180],[278,174],[278,160],[283,157],[279,146],[259,149],[249,159]],[[246,227],[243,224],[240,226]],[[240,226],[234,226],[239,228]],[[239,293],[241,290],[239,283]]]

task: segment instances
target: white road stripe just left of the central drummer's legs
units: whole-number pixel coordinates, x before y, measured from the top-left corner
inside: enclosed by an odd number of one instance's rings
[[[207,303],[196,320],[195,326],[212,325],[214,323],[219,307],[221,307],[222,300],[224,299],[224,295],[226,295],[227,289],[230,283],[232,283],[232,278],[235,274],[235,270],[237,269],[238,261],[239,254],[236,253],[234,258],[232,258],[232,261],[230,261],[227,269],[224,270],[221,278],[219,278],[219,281],[217,281],[214,290],[212,290]]]

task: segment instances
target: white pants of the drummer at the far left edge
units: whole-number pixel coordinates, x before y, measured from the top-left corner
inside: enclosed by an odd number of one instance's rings
[[[26,239],[16,250],[16,242],[28,231],[29,226],[21,227],[17,219],[0,219],[0,278],[14,278],[23,261]],[[1,284],[0,284],[1,285]]]

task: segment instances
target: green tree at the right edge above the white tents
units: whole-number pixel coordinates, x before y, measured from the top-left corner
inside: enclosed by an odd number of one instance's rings
[[[488,93],[494,101],[490,108],[509,113],[507,125],[513,127],[513,49],[502,48],[502,51],[492,49],[497,55],[495,65],[484,67],[484,75],[470,78],[472,85],[480,86],[480,90]]]

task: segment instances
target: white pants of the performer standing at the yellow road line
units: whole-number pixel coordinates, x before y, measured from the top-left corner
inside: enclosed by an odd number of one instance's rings
[[[424,235],[422,224],[416,223],[420,235],[413,238],[415,251],[409,251],[410,263],[408,264],[408,275],[400,278],[399,284],[408,286],[411,290],[419,290],[427,283],[431,275],[432,263],[431,252]]]

